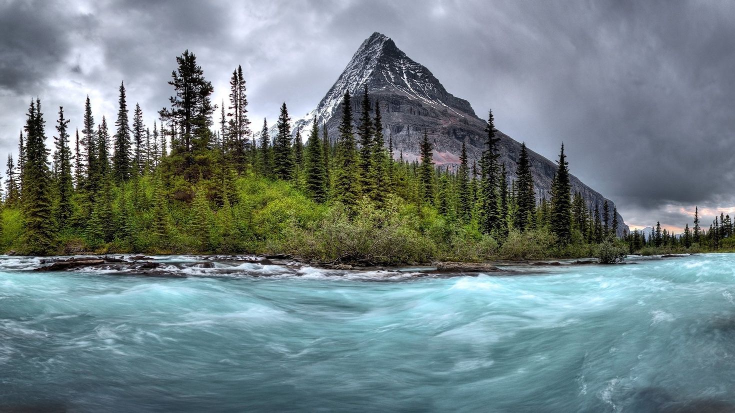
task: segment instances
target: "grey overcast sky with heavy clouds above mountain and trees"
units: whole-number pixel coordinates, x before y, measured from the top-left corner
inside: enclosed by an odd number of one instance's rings
[[[514,139],[551,159],[563,141],[631,226],[735,212],[732,1],[0,0],[0,158],[35,96],[51,132],[87,94],[114,119],[125,81],[152,124],[187,48],[216,100],[243,65],[255,130],[283,101],[300,117],[376,31]]]

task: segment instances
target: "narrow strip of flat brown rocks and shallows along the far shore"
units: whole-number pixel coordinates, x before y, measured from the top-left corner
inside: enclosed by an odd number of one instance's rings
[[[685,257],[662,255],[646,257],[646,260]],[[636,264],[643,257],[631,257],[632,262],[612,264],[620,266]],[[3,260],[0,258],[0,260]],[[372,274],[380,277],[457,277],[464,275],[529,274],[553,268],[576,266],[610,266],[594,258],[566,260],[502,260],[486,263],[440,261],[410,263],[401,266],[353,266],[344,263],[312,263],[291,255],[76,255],[58,257],[6,257],[9,268],[40,272],[87,272],[90,274],[140,275],[148,277],[189,277],[196,275],[255,274],[255,277],[271,277],[283,274]],[[17,263],[17,264],[12,264]],[[276,271],[279,268],[279,271]],[[1,266],[0,266],[1,269]],[[256,271],[257,270],[257,271]]]

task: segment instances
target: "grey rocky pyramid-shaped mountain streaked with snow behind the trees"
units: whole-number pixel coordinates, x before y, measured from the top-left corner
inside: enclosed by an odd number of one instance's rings
[[[295,121],[294,133],[302,131],[305,136],[312,121],[316,120],[320,125],[326,123],[329,136],[336,139],[345,91],[355,96],[352,109],[359,114],[359,95],[365,84],[368,85],[370,100],[380,105],[384,134],[386,138],[392,138],[395,156],[403,153],[404,159],[418,158],[419,142],[426,131],[434,143],[434,161],[437,164],[456,167],[463,141],[467,145],[470,164],[473,160],[479,161],[484,136],[487,135],[484,132],[485,120],[477,116],[467,100],[447,92],[429,69],[406,56],[390,37],[377,32],[362,42],[318,106]],[[487,114],[484,116],[487,117]],[[501,139],[500,161],[506,164],[509,179],[514,180],[520,143],[501,131],[496,136]],[[538,199],[550,199],[556,163],[530,148],[528,153],[536,183],[536,196]],[[575,176],[571,176],[571,184],[572,190],[580,192],[592,208],[599,204],[602,211],[605,198],[601,194]],[[608,202],[612,211],[614,204],[610,200]],[[620,214],[617,219],[620,222],[618,235],[622,235],[628,226]]]

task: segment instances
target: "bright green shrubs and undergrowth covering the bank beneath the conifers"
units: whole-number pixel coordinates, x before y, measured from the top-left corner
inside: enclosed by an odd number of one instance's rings
[[[75,202],[76,224],[60,233],[56,253],[291,253],[322,262],[388,264],[590,257],[599,249],[579,234],[561,246],[547,227],[509,230],[500,244],[476,222],[463,224],[430,205],[395,196],[381,208],[366,198],[352,207],[320,204],[291,183],[254,176],[237,178],[234,200],[224,205],[211,199],[206,182],[192,191],[193,200],[176,200],[173,190],[161,197],[154,188],[146,177],[115,189],[101,230],[89,230],[90,213]],[[23,214],[11,206],[2,217],[3,250],[22,252]],[[106,241],[105,234],[112,236]]]

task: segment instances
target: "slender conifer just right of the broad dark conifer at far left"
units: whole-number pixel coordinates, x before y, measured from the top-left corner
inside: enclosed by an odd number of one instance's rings
[[[69,120],[64,118],[64,108],[59,106],[59,120],[57,120],[55,139],[57,152],[57,180],[56,180],[56,220],[60,227],[64,227],[71,219],[71,197],[74,191],[71,176],[71,150],[69,149],[69,134],[67,128]]]

